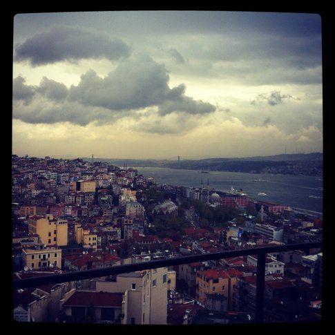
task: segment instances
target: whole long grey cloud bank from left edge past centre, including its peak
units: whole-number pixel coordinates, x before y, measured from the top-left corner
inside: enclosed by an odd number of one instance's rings
[[[146,55],[124,59],[104,78],[88,70],[79,84],[69,89],[46,77],[39,86],[25,86],[21,77],[15,82],[19,90],[14,96],[35,97],[26,108],[19,104],[20,99],[15,99],[13,115],[30,123],[102,124],[122,117],[135,119],[137,111],[147,107],[157,108],[157,120],[170,114],[184,115],[179,116],[182,120],[187,115],[203,115],[216,110],[207,102],[184,95],[186,87],[183,84],[169,88],[169,75],[164,66]]]

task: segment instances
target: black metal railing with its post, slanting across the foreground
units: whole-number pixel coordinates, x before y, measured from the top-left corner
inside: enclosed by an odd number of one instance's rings
[[[258,255],[257,259],[257,279],[256,279],[256,323],[263,322],[264,307],[264,289],[265,289],[265,258],[267,253],[284,252],[291,250],[304,250],[309,253],[310,249],[323,247],[322,242],[298,243],[292,245],[278,245],[276,247],[259,247],[252,249],[241,249],[234,251],[220,251],[216,253],[202,253],[200,255],[181,256],[169,258],[166,260],[152,260],[130,265],[117,265],[115,267],[104,267],[101,269],[89,269],[85,271],[73,271],[65,274],[55,274],[50,276],[41,276],[13,280],[13,289],[24,289],[28,287],[38,287],[41,285],[66,283],[74,280],[83,280],[88,278],[99,278],[116,274],[125,274],[133,271],[146,269],[157,269],[159,267],[169,267],[173,265],[182,265],[191,262],[203,262],[206,260],[218,260],[221,258],[230,258],[238,256]]]

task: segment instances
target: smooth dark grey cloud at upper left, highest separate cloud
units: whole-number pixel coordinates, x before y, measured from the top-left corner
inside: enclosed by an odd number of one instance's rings
[[[78,59],[120,59],[129,55],[129,48],[119,39],[101,32],[75,27],[54,27],[15,44],[15,61],[30,61],[32,66]]]

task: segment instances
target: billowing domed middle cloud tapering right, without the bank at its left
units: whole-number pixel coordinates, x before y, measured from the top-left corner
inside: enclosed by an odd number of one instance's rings
[[[115,70],[100,78],[90,70],[82,75],[77,86],[71,86],[69,99],[86,105],[114,111],[159,106],[159,113],[210,113],[211,104],[195,101],[184,95],[183,84],[169,88],[169,75],[164,66],[146,55],[124,60]]]

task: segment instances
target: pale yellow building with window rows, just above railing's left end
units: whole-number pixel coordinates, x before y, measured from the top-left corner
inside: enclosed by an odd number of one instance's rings
[[[55,247],[22,249],[22,259],[23,267],[30,270],[50,265],[61,269],[61,249]]]

